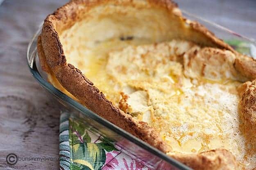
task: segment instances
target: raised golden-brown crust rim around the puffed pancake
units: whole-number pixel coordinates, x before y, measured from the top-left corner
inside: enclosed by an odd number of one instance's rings
[[[86,107],[88,107],[90,110],[166,153],[170,150],[170,148],[165,147],[165,143],[159,138],[158,134],[152,127],[145,122],[135,121],[132,116],[125,114],[125,112],[114,106],[105,98],[104,94],[102,94],[102,92],[100,92],[100,90],[97,89],[97,87],[95,87],[93,83],[82,74],[79,69],[66,62],[66,57],[63,52],[58,34],[61,34],[62,31],[71,27],[75,22],[81,20],[81,18],[85,15],[83,14],[85,9],[108,2],[120,3],[119,1],[117,2],[113,0],[70,1],[68,4],[49,15],[45,19],[41,37],[39,37],[38,42],[38,45],[41,47],[41,49],[39,48],[41,50],[39,50],[39,56],[44,56],[43,58],[39,57],[41,58],[40,61],[44,63],[42,67],[45,71],[49,73],[52,72],[61,85],[67,89],[68,92],[78,98],[79,101],[86,105]],[[229,45],[216,38],[214,34],[208,31],[205,27],[197,22],[186,20],[186,18],[180,16],[179,10],[176,8],[177,5],[170,0],[148,0],[148,2],[150,2],[150,5],[152,6],[161,7],[169,10],[171,13],[173,12],[173,14],[180,20],[183,20],[190,25],[190,30],[192,30],[192,33],[187,34],[187,37],[190,37],[190,35],[196,35],[195,42],[197,44],[202,42],[200,44],[202,46],[228,49],[233,51],[234,54],[238,55],[238,53]],[[125,3],[130,3],[130,1],[125,1]],[[136,5],[136,1],[133,1],[132,3],[132,5]],[[78,5],[79,8],[77,8]],[[199,39],[197,42],[196,39],[198,37],[202,39]],[[256,62],[255,60],[248,59],[247,56],[240,55],[240,58],[235,60],[234,67],[238,72],[240,72],[240,74],[246,76],[249,80],[256,77]],[[241,108],[243,108],[242,112],[245,114],[245,123],[248,123],[248,127],[254,125],[255,130],[256,108],[254,107],[256,100],[255,97],[252,96],[252,94],[255,96],[255,89],[252,90],[252,88],[254,88],[254,85],[251,85],[250,88],[245,90],[243,95],[245,97],[241,103]],[[248,98],[247,95],[250,97]],[[254,101],[254,105],[248,104],[248,100]],[[195,169],[232,169],[231,167],[235,169],[236,167],[236,161],[233,155],[227,150],[212,150],[202,152],[200,154],[190,155],[176,154],[172,155],[172,157]]]

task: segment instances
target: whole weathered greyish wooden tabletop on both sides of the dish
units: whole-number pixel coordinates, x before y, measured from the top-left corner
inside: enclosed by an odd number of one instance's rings
[[[45,16],[66,0],[5,0],[0,5],[0,169],[57,169],[59,161],[18,161],[18,157],[59,154],[59,108],[30,75],[27,45]],[[255,0],[177,0],[179,6],[256,39]]]

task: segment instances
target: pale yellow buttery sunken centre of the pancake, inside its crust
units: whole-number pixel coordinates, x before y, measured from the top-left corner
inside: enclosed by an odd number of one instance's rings
[[[239,130],[236,89],[241,83],[234,79],[234,70],[227,64],[220,68],[224,74],[215,74],[210,60],[209,67],[202,64],[202,75],[199,68],[193,70],[191,53],[196,59],[201,48],[191,42],[145,45],[146,40],[131,39],[95,42],[93,48],[67,48],[67,62],[79,68],[117,107],[152,125],[172,152],[225,148],[241,167],[255,167],[256,155],[245,151]]]

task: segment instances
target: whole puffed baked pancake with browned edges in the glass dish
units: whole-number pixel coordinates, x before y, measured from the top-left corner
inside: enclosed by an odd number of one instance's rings
[[[256,61],[169,0],[74,0],[38,53],[55,87],[194,169],[256,167]]]

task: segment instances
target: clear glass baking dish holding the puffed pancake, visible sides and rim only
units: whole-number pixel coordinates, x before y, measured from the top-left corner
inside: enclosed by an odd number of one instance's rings
[[[199,18],[193,14],[189,14],[186,11],[183,11],[183,13],[186,18],[190,20],[197,20],[212,31],[217,37],[222,38],[240,53],[256,58],[255,40],[240,36],[229,29]],[[72,117],[86,123],[86,125],[90,127],[89,130],[91,132],[104,136],[108,141],[111,141],[118,150],[140,161],[151,169],[190,170],[190,168],[179,161],[168,157],[163,152],[153,148],[144,141],[88,110],[84,105],[81,105],[48,83],[47,75],[41,69],[39,58],[37,56],[36,43],[40,32],[41,27],[34,35],[31,42],[29,42],[27,49],[27,62],[30,72],[36,81],[39,82],[50,96],[56,98],[58,103],[62,105],[62,107],[60,107],[61,110],[68,111]]]

